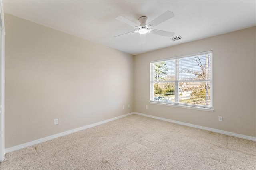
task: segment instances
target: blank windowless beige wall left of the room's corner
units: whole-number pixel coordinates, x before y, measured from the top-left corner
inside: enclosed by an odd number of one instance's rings
[[[4,20],[6,148],[133,112],[133,55]]]

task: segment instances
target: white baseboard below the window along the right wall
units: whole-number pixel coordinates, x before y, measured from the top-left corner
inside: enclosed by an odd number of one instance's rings
[[[162,117],[146,115],[146,114],[138,113],[138,112],[134,112],[134,114],[141,115],[141,116],[146,116],[146,117],[150,117],[150,118],[154,118],[154,119],[159,119],[159,120],[167,121],[167,122],[171,122],[171,123],[176,123],[176,124],[180,124],[180,125],[185,125],[185,126],[188,126],[188,127],[199,128],[199,129],[208,130],[208,131],[211,131],[211,132],[216,132],[216,133],[220,133],[220,134],[226,134],[226,135],[229,135],[229,136],[234,136],[234,137],[238,137],[238,138],[243,138],[243,139],[247,139],[247,140],[256,141],[255,137],[246,136],[246,135],[243,135],[243,134],[228,132],[228,131],[224,131],[224,130],[218,130],[218,129],[215,129],[215,128],[203,127],[203,126],[194,125],[194,124],[190,124],[190,123],[184,123],[184,122],[180,122],[180,121],[174,121],[174,120],[171,120],[171,119],[165,119],[165,118],[162,118]]]

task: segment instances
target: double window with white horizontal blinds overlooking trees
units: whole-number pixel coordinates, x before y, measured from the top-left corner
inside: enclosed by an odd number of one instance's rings
[[[212,109],[212,51],[150,65],[151,102]]]

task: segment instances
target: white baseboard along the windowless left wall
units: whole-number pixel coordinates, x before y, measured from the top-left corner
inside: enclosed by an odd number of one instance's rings
[[[67,134],[71,134],[71,133],[74,133],[74,132],[78,132],[80,130],[84,130],[84,129],[87,129],[87,128],[91,128],[91,127],[95,127],[97,125],[101,125],[103,123],[107,123],[107,122],[110,122],[110,121],[114,121],[116,119],[120,119],[122,117],[126,117],[126,116],[129,116],[129,115],[132,115],[134,114],[133,112],[132,113],[127,113],[125,115],[121,115],[121,116],[118,116],[118,117],[114,117],[114,118],[111,118],[111,119],[107,119],[105,121],[100,121],[100,122],[97,122],[97,123],[93,123],[91,125],[86,125],[84,127],[80,127],[80,128],[75,128],[75,129],[72,129],[72,130],[68,130],[66,132],[62,132],[62,133],[58,133],[58,134],[54,134],[54,135],[51,135],[51,136],[47,136],[45,138],[41,138],[41,139],[38,139],[38,140],[34,140],[34,141],[31,141],[31,142],[27,142],[27,143],[24,143],[24,144],[19,144],[17,146],[13,146],[11,148],[6,148],[4,151],[5,153],[9,153],[9,152],[13,152],[13,151],[16,151],[16,150],[20,150],[20,149],[23,149],[23,148],[26,148],[28,146],[33,146],[35,144],[39,144],[39,143],[42,143],[42,142],[46,142],[48,140],[52,140],[52,139],[55,139],[55,138],[58,138],[60,136],[65,136]]]

